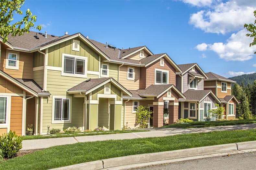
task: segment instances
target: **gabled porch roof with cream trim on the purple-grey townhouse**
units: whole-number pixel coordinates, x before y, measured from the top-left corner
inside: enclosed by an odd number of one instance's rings
[[[207,95],[211,94],[215,100],[221,102],[219,98],[211,90],[192,90],[188,89],[185,93],[186,101],[199,101],[201,102]]]

